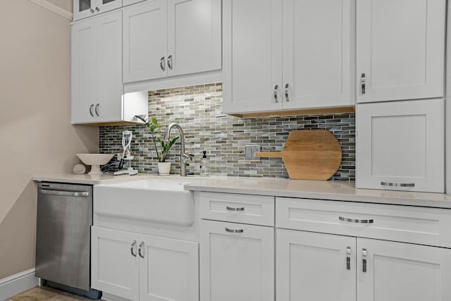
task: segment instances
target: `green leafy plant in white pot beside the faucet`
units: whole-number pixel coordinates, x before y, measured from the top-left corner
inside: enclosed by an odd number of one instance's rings
[[[171,140],[166,142],[161,139],[161,128],[163,128],[163,125],[160,125],[155,117],[151,118],[150,121],[147,121],[145,116],[136,116],[136,118],[144,121],[147,128],[149,128],[152,141],[154,142],[156,156],[158,158],[157,165],[159,174],[161,176],[168,175],[171,170],[171,162],[166,162],[166,158],[169,154],[169,150],[178,140],[178,136],[173,137]]]

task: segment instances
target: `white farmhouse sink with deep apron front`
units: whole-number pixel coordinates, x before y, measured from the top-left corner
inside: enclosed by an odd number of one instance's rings
[[[194,195],[184,187],[192,180],[147,179],[94,186],[94,214],[121,219],[191,226]]]

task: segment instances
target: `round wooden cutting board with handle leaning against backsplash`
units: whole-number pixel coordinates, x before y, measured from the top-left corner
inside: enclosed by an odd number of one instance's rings
[[[328,180],[340,167],[340,142],[328,130],[292,130],[281,152],[255,156],[282,158],[294,180]]]

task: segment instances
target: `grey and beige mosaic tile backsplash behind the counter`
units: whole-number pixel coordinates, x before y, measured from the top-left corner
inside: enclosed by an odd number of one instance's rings
[[[164,128],[178,123],[185,132],[185,148],[194,154],[187,173],[199,174],[202,151],[209,156],[209,174],[288,178],[282,159],[245,159],[246,145],[260,145],[261,151],[281,150],[290,130],[326,129],[342,147],[342,164],[331,180],[355,180],[355,114],[237,118],[222,113],[222,84],[196,85],[149,92],[149,116]],[[163,128],[163,129],[164,129]],[[104,126],[100,128],[99,152],[121,152],[122,131],[132,130],[132,166],[140,173],[157,173],[154,145],[145,125]],[[178,135],[173,129],[171,137]],[[180,148],[171,149],[166,161],[173,162],[171,173],[180,173]],[[111,166],[111,170],[114,167]]]

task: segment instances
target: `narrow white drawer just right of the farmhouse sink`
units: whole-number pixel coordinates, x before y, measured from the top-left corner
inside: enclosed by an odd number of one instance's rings
[[[274,226],[274,197],[200,192],[201,219]]]

